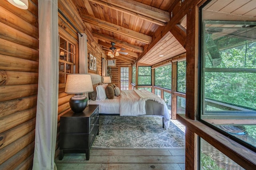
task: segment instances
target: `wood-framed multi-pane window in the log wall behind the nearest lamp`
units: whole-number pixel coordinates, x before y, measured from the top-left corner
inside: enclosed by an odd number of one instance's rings
[[[75,45],[59,36],[59,83],[66,83],[68,73],[73,73]]]

